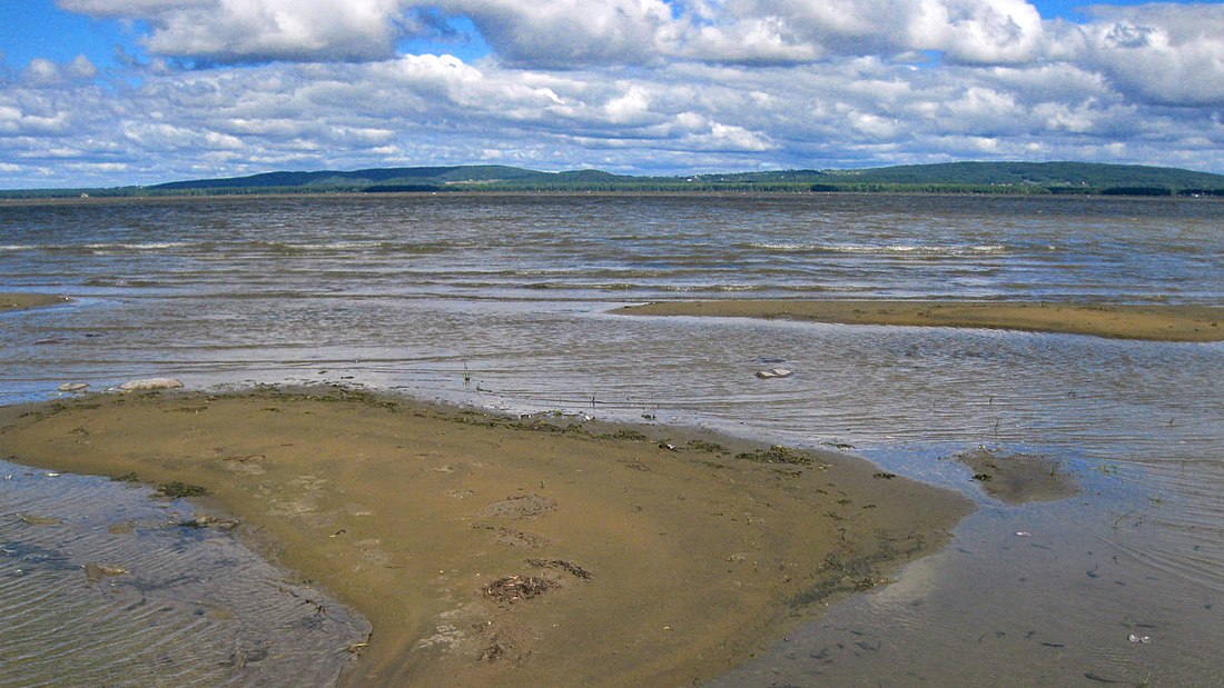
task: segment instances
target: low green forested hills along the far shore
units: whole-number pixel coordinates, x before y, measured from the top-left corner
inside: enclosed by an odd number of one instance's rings
[[[278,171],[114,189],[0,192],[0,198],[389,192],[897,192],[1224,197],[1224,175],[1095,163],[947,163],[858,170],[775,170],[628,176],[600,170],[541,172],[504,165]]]

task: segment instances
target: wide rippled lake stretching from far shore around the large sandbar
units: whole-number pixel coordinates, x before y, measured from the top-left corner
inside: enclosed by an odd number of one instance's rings
[[[5,291],[75,301],[0,315],[0,403],[153,375],[197,389],[344,382],[852,445],[979,501],[945,551],[720,684],[1224,683],[1224,345],[608,313],[673,298],[1224,306],[1220,202],[0,205]],[[796,374],[754,376],[774,362]],[[946,458],[979,445],[1053,457],[1082,491],[984,497]]]

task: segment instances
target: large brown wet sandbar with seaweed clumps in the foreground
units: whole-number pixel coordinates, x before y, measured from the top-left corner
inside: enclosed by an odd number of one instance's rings
[[[203,488],[371,621],[350,686],[700,682],[972,508],[836,453],[338,389],[6,407],[0,453]]]

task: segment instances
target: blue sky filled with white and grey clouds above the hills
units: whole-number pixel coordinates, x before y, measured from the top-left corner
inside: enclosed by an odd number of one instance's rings
[[[1224,174],[1224,2],[0,0],[0,188],[957,160]]]

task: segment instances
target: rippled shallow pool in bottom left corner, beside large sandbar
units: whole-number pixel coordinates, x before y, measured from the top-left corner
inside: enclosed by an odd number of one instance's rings
[[[318,686],[368,624],[190,505],[0,461],[0,686]]]

